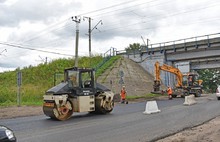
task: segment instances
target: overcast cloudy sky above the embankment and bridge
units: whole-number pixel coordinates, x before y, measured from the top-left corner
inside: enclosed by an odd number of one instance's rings
[[[144,45],[219,33],[219,0],[0,0],[0,72],[111,47]],[[142,37],[142,38],[141,38]]]

